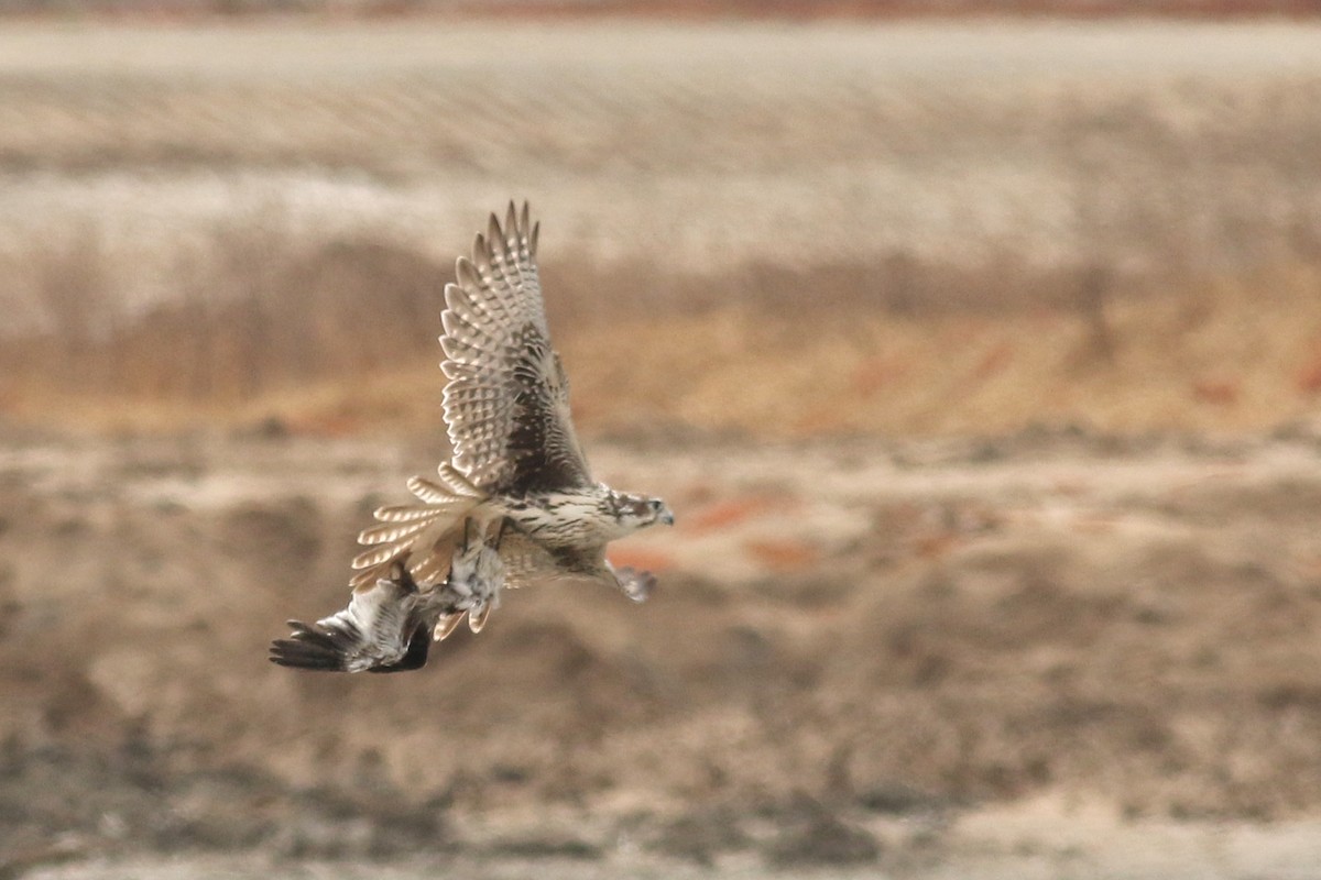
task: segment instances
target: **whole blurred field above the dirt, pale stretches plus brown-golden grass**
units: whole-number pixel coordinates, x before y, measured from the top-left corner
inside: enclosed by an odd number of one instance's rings
[[[608,426],[1258,429],[1321,385],[1310,25],[0,42],[24,421],[435,424],[439,288],[510,197]]]

